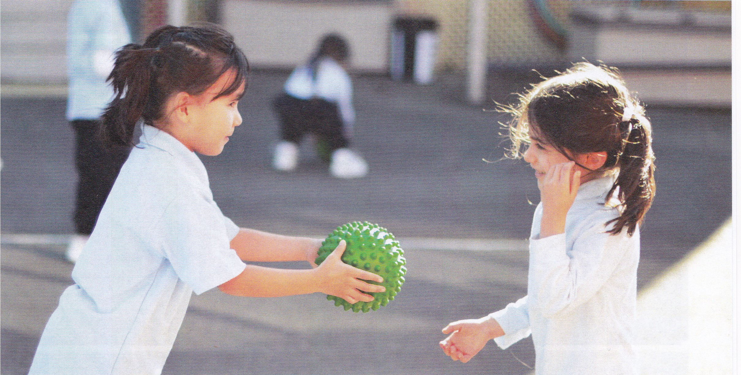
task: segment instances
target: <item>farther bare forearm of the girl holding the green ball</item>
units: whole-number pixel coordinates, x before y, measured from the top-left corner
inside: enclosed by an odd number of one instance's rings
[[[289,237],[260,232],[255,229],[239,229],[229,243],[239,259],[248,262],[291,262],[306,260],[312,266],[316,251],[322,240],[308,237]]]

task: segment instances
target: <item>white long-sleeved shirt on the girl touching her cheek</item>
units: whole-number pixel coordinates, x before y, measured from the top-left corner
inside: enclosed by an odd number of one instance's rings
[[[605,233],[619,215],[605,206],[612,178],[579,186],[565,233],[540,238],[542,203],[530,237],[528,295],[490,314],[505,349],[530,334],[536,374],[638,374],[634,352],[639,230]]]

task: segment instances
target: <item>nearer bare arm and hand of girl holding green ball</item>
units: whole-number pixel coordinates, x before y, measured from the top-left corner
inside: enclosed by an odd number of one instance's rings
[[[373,296],[361,291],[382,292],[383,286],[366,283],[373,280],[382,283],[377,274],[342,263],[345,241],[313,269],[278,269],[247,265],[241,274],[223,283],[219,289],[226,294],[243,297],[282,297],[310,294],[316,291],[341,297],[348,303],[371,302]]]

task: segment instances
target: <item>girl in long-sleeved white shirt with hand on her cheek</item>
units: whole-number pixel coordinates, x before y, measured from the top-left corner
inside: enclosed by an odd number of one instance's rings
[[[502,107],[511,158],[535,170],[528,295],[440,342],[468,362],[532,334],[536,374],[638,374],[633,348],[639,226],[654,199],[651,123],[617,70],[586,62]],[[523,151],[524,149],[524,151]]]

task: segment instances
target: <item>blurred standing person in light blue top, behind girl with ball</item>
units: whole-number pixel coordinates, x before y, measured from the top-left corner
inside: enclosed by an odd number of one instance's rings
[[[113,99],[106,80],[114,53],[131,42],[118,0],[76,0],[67,18],[67,121],[75,130],[79,177],[73,216],[76,235],[67,260],[76,262],[130,148],[101,146],[99,118]]]

